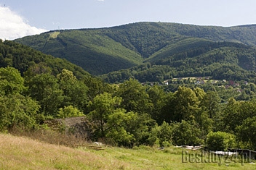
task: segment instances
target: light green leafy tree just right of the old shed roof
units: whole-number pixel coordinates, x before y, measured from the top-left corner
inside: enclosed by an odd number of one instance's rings
[[[88,118],[94,124],[95,137],[108,137],[118,145],[146,144],[150,127],[155,122],[148,114],[121,109],[121,100],[110,93],[103,93],[89,101]]]

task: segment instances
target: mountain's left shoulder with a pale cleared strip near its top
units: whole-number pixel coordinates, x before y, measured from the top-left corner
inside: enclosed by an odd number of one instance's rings
[[[61,30],[17,40],[45,54],[71,61],[93,75],[141,64],[135,51],[113,41],[102,30]]]

